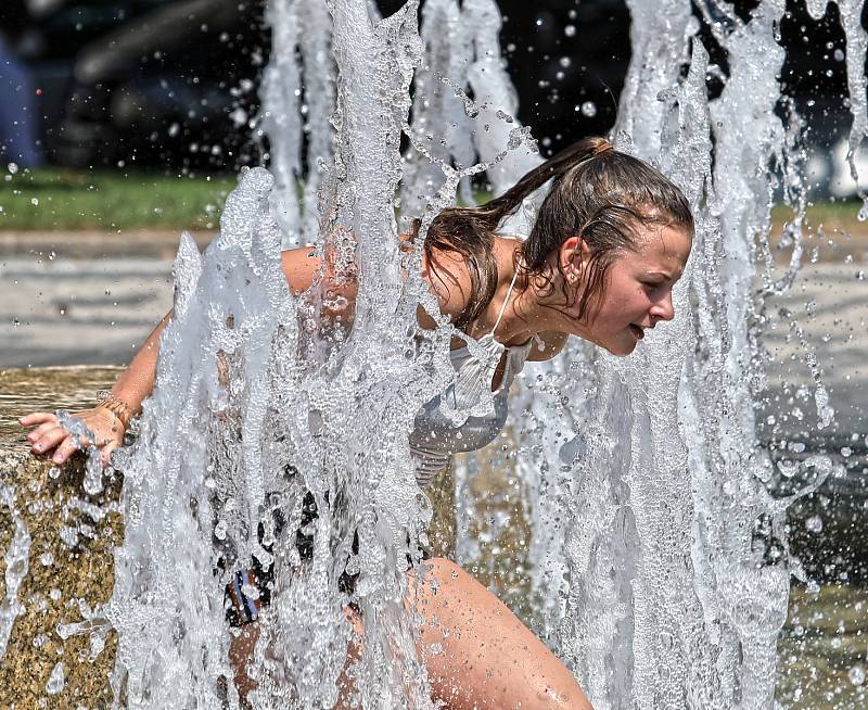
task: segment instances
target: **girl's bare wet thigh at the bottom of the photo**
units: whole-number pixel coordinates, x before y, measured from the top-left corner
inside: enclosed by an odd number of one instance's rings
[[[455,562],[425,565],[412,591],[434,699],[450,710],[590,710],[572,673],[494,594]]]

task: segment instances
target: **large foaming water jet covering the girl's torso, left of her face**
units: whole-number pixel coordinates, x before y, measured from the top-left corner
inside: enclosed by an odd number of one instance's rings
[[[316,250],[319,287],[301,300],[289,293],[269,206],[273,181],[259,169],[230,195],[204,258],[184,239],[176,261],[157,385],[138,447],[123,461],[126,540],[105,610],[119,631],[115,684],[129,707],[220,702],[216,680],[233,672],[222,588],[251,558],[276,576],[256,650],[259,707],[336,701],[353,634],[337,580],[353,557],[353,600],[366,620],[363,648],[346,671],[354,693],[366,707],[430,703],[404,609],[406,560],[418,558],[425,517],[407,432],[437,382],[405,355],[416,346],[413,294],[422,286],[403,278],[391,210],[421,49],[416,7],[378,24],[363,2],[330,10],[340,121]],[[320,329],[335,310],[329,292],[358,271],[367,278],[352,328],[339,313]],[[445,371],[448,333],[437,338]],[[303,568],[291,545],[276,555],[266,548],[279,534],[266,491],[288,511],[284,541],[301,525],[304,494],[316,500],[312,560]],[[228,699],[238,701],[232,692]]]

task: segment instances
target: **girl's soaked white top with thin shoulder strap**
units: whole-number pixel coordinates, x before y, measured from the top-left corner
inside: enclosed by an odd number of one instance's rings
[[[429,485],[452,454],[482,448],[503,429],[510,384],[524,366],[533,343],[532,339],[523,345],[506,347],[494,338],[518,275],[516,269],[492,331],[449,353],[457,372],[455,383],[425,404],[416,417],[410,448],[420,486]],[[503,353],[506,369],[493,392],[492,383]]]

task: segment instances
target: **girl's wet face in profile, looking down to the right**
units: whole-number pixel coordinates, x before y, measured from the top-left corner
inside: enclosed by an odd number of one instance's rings
[[[602,295],[584,322],[576,321],[575,334],[613,355],[629,355],[646,329],[675,317],[672,288],[690,256],[691,237],[684,229],[652,225],[637,232],[638,250],[615,257]],[[587,246],[582,242],[579,249]]]

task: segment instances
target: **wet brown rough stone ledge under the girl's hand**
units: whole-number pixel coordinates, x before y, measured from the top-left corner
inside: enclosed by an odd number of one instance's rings
[[[0,451],[0,644],[18,611],[0,659],[0,708],[111,707],[116,636],[92,610],[114,583],[120,477],[106,477],[98,496],[87,495],[82,481],[84,457],[58,468],[23,444]],[[14,595],[10,580],[18,580]],[[60,633],[81,622],[95,631]]]

